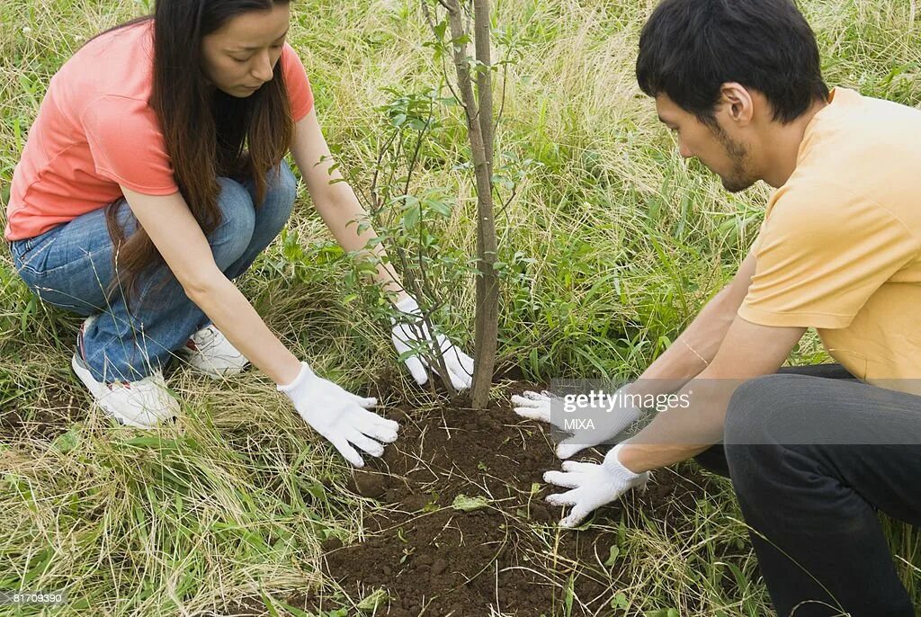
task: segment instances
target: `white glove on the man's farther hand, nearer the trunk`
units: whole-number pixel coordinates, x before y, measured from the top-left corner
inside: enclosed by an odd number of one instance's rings
[[[568,459],[577,452],[592,448],[599,444],[617,437],[621,431],[629,425],[632,425],[639,417],[640,412],[633,405],[629,404],[625,395],[630,384],[626,384],[620,390],[612,394],[609,399],[604,400],[604,407],[593,408],[590,414],[596,420],[591,429],[577,429],[572,437],[566,437],[556,446],[556,456],[559,459]],[[512,395],[511,401],[516,405],[515,413],[521,417],[539,420],[556,426],[562,431],[573,432],[572,429],[565,426],[568,418],[574,417],[572,413],[565,412],[565,402],[562,398],[554,396],[547,390],[542,392],[525,391]],[[608,404],[615,404],[611,411],[608,411]],[[577,414],[577,417],[584,417],[586,413]]]

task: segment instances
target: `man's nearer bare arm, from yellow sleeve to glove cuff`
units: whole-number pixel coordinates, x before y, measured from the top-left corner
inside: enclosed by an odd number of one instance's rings
[[[775,373],[803,332],[805,328],[759,326],[737,317],[710,366],[677,393],[678,403],[625,442],[620,462],[630,471],[649,471],[690,459],[721,441],[735,389],[747,379]]]

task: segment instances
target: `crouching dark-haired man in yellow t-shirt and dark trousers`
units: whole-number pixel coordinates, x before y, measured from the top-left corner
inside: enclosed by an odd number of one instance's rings
[[[781,615],[914,615],[876,511],[921,524],[921,111],[830,92],[791,0],[665,0],[636,76],[682,157],[730,192],[777,191],[734,280],[628,386],[677,381],[684,404],[600,465],[547,472],[571,489],[547,500],[573,527],[697,456],[731,477]],[[840,366],[778,373],[809,327]],[[516,402],[561,424],[541,395]]]

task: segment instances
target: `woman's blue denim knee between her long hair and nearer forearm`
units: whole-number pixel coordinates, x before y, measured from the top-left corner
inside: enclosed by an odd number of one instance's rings
[[[256,214],[250,192],[236,180],[218,178],[221,186],[217,198],[221,223],[208,234],[208,244],[221,269],[239,260],[250,246],[256,226]]]

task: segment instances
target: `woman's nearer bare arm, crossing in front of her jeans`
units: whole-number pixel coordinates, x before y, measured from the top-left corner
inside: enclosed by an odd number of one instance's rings
[[[134,216],[192,302],[240,353],[276,384],[297,378],[300,362],[218,269],[208,240],[181,193],[151,196],[122,187]]]

